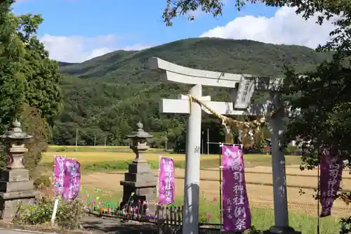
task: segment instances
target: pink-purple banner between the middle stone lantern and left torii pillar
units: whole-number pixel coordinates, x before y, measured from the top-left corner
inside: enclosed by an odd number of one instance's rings
[[[171,157],[160,157],[159,204],[173,204],[174,190],[174,160]]]

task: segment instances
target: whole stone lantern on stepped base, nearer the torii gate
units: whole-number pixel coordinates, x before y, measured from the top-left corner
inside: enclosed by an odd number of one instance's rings
[[[149,164],[143,159],[143,152],[149,149],[147,139],[152,138],[138,122],[138,130],[127,136],[130,138],[130,148],[135,153],[135,159],[129,164],[128,172],[124,174],[123,197],[121,209],[139,207],[143,204],[145,214],[154,215],[157,202],[157,178],[152,173]],[[147,209],[146,209],[147,208]]]

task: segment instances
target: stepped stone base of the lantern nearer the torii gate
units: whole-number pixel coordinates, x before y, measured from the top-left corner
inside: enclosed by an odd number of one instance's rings
[[[154,215],[157,202],[157,178],[152,173],[146,161],[133,161],[129,164],[128,172],[124,174],[123,197],[121,209],[140,207],[143,205],[145,214]],[[134,195],[132,196],[132,193]],[[139,203],[140,200],[140,203]]]

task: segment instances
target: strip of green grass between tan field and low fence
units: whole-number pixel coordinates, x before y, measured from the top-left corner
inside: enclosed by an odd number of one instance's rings
[[[90,191],[90,193],[88,193]],[[95,202],[110,202],[112,204],[119,204],[121,201],[121,191],[119,192],[102,192],[96,188],[82,189],[81,194],[87,198],[88,201],[95,200]],[[176,197],[175,205],[183,205],[183,197]],[[208,223],[220,223],[220,204],[218,200],[211,197],[208,199],[206,195],[201,196],[199,201],[199,215],[203,217],[211,218],[208,219]],[[258,230],[267,230],[274,224],[274,212],[270,208],[262,207],[251,207],[251,225],[255,226]],[[302,233],[316,233],[317,230],[317,217],[307,216],[306,214],[298,212],[289,212],[289,224],[296,230],[302,231]],[[320,233],[331,234],[338,233],[338,219],[333,217],[326,217],[320,221]]]

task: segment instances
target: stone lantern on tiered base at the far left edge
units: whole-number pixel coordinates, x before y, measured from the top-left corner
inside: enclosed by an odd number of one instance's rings
[[[0,217],[9,221],[21,204],[33,204],[36,196],[29,171],[22,164],[22,157],[28,151],[25,142],[32,136],[22,131],[20,122],[15,120],[11,129],[0,137],[4,139],[4,152],[8,155],[8,164],[0,178]]]

